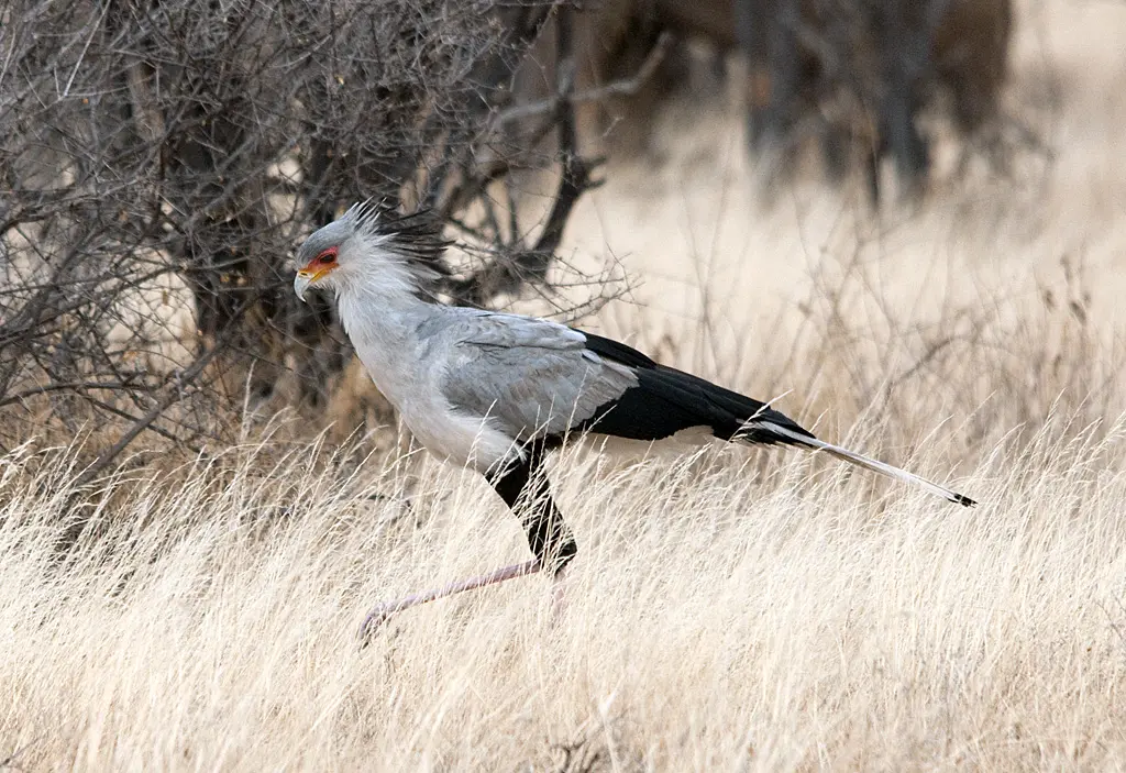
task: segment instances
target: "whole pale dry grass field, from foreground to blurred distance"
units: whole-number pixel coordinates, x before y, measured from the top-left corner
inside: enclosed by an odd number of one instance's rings
[[[361,650],[375,602],[526,557],[482,479],[283,415],[107,477],[60,561],[73,453],[29,443],[0,458],[0,770],[1126,767],[1124,30],[1021,6],[1010,109],[1054,159],[944,162],[920,214],[812,180],[756,205],[713,95],[569,233],[638,282],[591,325],[978,507],[798,452],[574,448],[562,609],[515,581]]]

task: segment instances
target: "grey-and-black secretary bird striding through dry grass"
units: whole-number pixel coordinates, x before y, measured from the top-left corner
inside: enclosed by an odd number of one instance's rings
[[[361,637],[415,604],[540,570],[558,576],[578,545],[540,467],[569,433],[653,441],[701,428],[727,441],[824,451],[975,504],[624,343],[547,320],[443,305],[427,288],[445,249],[440,224],[426,213],[397,217],[357,204],[302,244],[294,291],[302,300],[310,287],[336,293],[340,321],[379,392],[431,453],[486,476],[513,512],[521,504],[535,558],[381,604]]]

